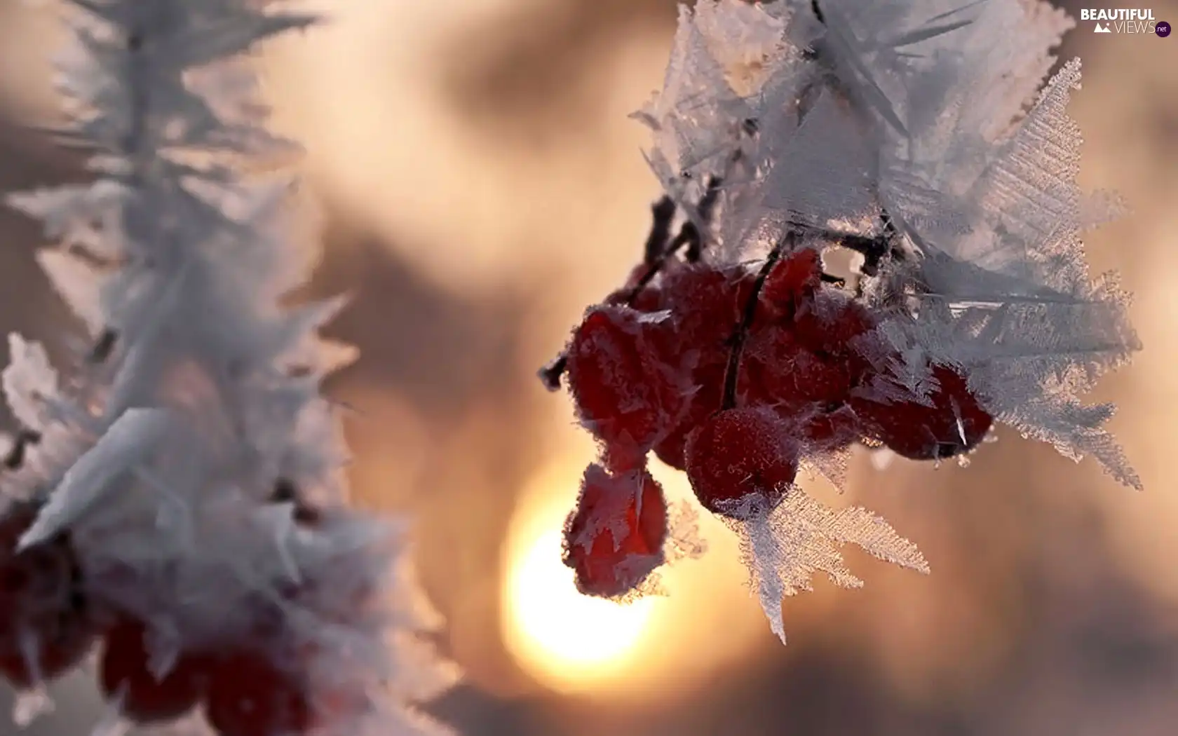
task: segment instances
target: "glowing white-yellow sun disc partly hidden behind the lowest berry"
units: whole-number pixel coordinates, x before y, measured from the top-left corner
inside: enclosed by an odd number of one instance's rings
[[[576,482],[575,473],[565,480],[570,488]],[[571,506],[570,495],[561,496]],[[508,541],[504,639],[545,685],[589,690],[624,674],[648,629],[653,602],[621,604],[577,591],[573,571],[561,562],[565,511],[547,503],[524,504],[517,512]]]

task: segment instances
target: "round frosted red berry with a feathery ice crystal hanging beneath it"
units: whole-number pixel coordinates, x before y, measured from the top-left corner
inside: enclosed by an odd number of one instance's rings
[[[728,409],[687,442],[687,478],[704,509],[732,518],[770,510],[798,475],[798,426],[773,410]]]

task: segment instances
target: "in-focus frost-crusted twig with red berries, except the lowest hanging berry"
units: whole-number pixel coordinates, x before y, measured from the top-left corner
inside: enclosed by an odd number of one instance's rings
[[[541,376],[567,376],[598,472],[641,478],[650,451],[686,470],[782,638],[781,598],[813,572],[861,584],[847,542],[927,571],[879,517],[808,497],[799,466],[841,488],[855,443],[964,463],[1006,424],[1140,488],[1113,407],[1081,400],[1139,345],[1080,241],[1113,213],[1076,184],[1079,61],[1044,84],[1071,26],[1040,0],[680,8],[635,113],[666,190],[643,261]],[[840,250],[851,272],[826,273]]]

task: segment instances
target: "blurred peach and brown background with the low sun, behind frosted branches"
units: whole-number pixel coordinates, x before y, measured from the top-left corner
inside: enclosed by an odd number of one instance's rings
[[[1178,21],[1178,2],[1151,5]],[[1119,404],[1146,491],[1014,432],[967,469],[863,452],[847,497],[818,492],[882,513],[933,575],[848,550],[867,586],[788,599],[782,648],[708,519],[710,551],[668,571],[667,598],[585,601],[560,564],[594,447],[535,370],[638,256],[657,184],[627,114],[661,86],[674,2],[316,7],[332,22],[260,67],[322,204],[312,287],[355,294],[330,332],[363,357],[330,391],[359,410],[356,493],[416,515],[438,647],[466,672],[434,712],[470,736],[1178,734],[1178,37],[1083,22],[1061,53],[1085,64],[1081,180],[1133,208],[1087,243],[1136,292],[1146,349],[1093,398]],[[0,190],[80,175],[18,127],[55,108],[57,34],[48,11],[0,4]],[[53,336],[67,318],[32,260],[37,224],[0,211],[0,326]],[[88,732],[94,694],[59,692],[29,732]]]

